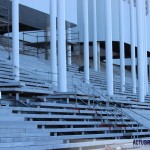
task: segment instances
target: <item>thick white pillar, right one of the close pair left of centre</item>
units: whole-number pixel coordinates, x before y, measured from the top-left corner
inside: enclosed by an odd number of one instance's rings
[[[67,92],[65,3],[66,0],[57,0],[59,92]]]

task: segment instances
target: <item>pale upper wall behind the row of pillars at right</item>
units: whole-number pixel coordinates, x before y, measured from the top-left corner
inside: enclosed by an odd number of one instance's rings
[[[113,41],[119,41],[119,0],[112,0],[112,32]],[[80,32],[80,41],[83,41],[83,13],[82,1],[77,0],[78,6],[78,30]],[[136,10],[135,10],[136,11]],[[135,16],[136,17],[136,16]],[[89,39],[92,41],[92,1],[89,0]],[[136,21],[136,20],[135,20]],[[150,21],[149,21],[150,22]],[[130,44],[130,6],[124,1],[124,27],[125,27],[125,42]],[[136,30],[136,27],[135,27]],[[98,41],[105,41],[105,0],[97,0],[97,37]]]

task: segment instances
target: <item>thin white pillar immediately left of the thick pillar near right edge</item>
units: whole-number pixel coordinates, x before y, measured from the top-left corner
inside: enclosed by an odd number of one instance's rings
[[[132,68],[132,92],[136,93],[136,59],[135,59],[135,13],[134,3],[130,0],[130,27],[131,27],[131,68]]]

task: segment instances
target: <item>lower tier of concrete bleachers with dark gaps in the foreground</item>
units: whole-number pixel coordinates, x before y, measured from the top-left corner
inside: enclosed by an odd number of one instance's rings
[[[1,113],[7,114],[8,118],[14,118],[15,121],[0,121],[0,148],[62,149],[87,146],[90,148],[98,145],[105,147],[105,144],[98,144],[92,139],[96,141],[104,138],[123,139],[150,135],[147,128],[139,124],[137,127],[137,123],[127,116],[118,111],[114,114],[114,107],[106,110],[104,106],[99,108],[96,105],[93,106],[95,109],[91,109],[80,100],[81,95],[78,104],[75,103],[74,95],[65,94],[61,97],[59,94],[59,97],[58,99],[56,94],[37,97],[29,101],[28,108],[1,107]],[[88,103],[86,96],[83,96],[83,100]],[[116,116],[120,121],[118,119],[116,121]],[[87,145],[85,140],[89,140],[91,145]]]

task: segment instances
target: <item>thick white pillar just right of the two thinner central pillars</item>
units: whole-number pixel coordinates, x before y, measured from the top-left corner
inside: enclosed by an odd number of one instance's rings
[[[111,0],[105,0],[106,21],[106,80],[107,95],[113,96],[112,16]]]

